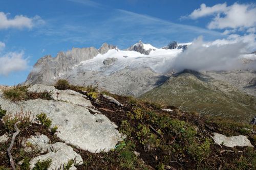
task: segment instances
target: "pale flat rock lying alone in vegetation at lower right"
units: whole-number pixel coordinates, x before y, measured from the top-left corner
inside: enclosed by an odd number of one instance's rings
[[[223,144],[226,147],[253,147],[251,144],[250,140],[247,139],[246,136],[239,135],[239,136],[231,136],[227,137],[225,135],[219,134],[219,133],[214,133],[214,139],[215,142],[218,144]]]

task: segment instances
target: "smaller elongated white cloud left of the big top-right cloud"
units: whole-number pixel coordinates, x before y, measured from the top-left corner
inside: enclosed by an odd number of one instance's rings
[[[217,4],[212,7],[207,7],[205,4],[201,4],[199,9],[194,10],[188,17],[192,19],[197,19],[204,16],[209,16],[212,14],[224,12],[227,10],[227,4]]]

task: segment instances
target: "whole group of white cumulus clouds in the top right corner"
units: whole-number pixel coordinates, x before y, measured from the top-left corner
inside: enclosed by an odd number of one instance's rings
[[[189,17],[197,19],[204,16],[215,15],[214,19],[209,22],[209,29],[236,29],[250,28],[256,26],[256,5],[255,4],[238,4],[231,6],[217,4],[207,7],[202,4],[199,9],[194,10]]]

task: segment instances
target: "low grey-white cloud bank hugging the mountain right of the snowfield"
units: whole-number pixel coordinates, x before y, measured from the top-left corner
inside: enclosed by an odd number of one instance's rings
[[[177,71],[240,69],[245,48],[247,43],[242,41],[219,45],[216,42],[204,42],[201,36],[169,64]]]

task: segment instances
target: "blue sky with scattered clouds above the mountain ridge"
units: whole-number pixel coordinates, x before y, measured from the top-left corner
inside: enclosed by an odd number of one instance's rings
[[[126,48],[139,40],[161,47],[173,40],[190,42],[200,35],[206,41],[228,39],[231,34],[254,36],[256,22],[224,20],[229,23],[225,25],[219,20],[231,14],[236,3],[239,10],[241,5],[255,9],[254,1],[0,1],[0,84],[24,82],[40,57],[55,57],[72,47],[98,48],[108,42]],[[254,11],[246,10],[253,17]],[[19,62],[10,66],[13,60]]]

